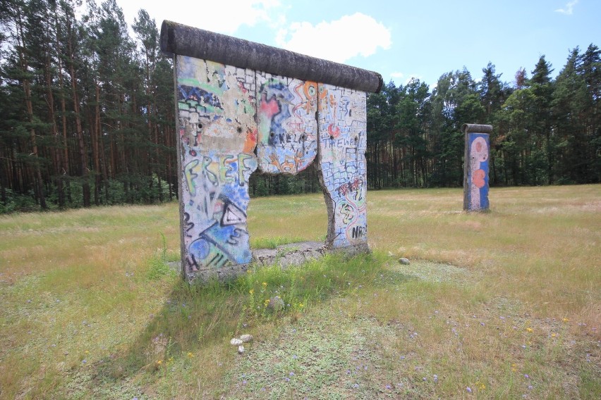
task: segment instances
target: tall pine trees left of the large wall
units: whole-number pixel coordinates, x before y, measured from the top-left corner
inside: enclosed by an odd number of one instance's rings
[[[114,0],[2,0],[0,212],[177,192],[173,67]]]

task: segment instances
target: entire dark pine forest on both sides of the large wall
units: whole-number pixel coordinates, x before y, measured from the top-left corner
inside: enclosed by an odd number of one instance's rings
[[[130,30],[131,28],[131,30]],[[133,38],[131,37],[133,36]],[[0,213],[154,203],[177,194],[173,65],[154,19],[115,0],[0,0]],[[601,180],[601,52],[552,79],[463,70],[368,96],[370,187],[461,186],[463,123],[494,125],[491,185]],[[320,190],[317,173],[254,174],[251,194]]]

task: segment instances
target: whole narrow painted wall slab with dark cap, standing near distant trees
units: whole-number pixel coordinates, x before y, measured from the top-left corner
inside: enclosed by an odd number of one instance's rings
[[[463,209],[483,211],[488,203],[488,160],[491,125],[465,124],[466,156],[463,177]]]

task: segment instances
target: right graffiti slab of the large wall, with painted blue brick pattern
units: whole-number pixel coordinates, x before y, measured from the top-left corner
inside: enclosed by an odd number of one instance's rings
[[[368,249],[365,92],[319,85],[318,168],[328,211],[326,244]]]

